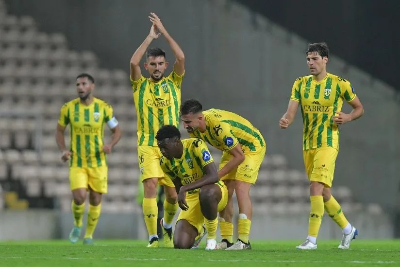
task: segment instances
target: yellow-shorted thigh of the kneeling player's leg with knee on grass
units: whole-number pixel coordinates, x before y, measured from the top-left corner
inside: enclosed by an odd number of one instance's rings
[[[201,213],[199,193],[186,195],[186,203],[189,209],[181,211],[176,221],[178,222],[179,220],[185,219],[196,228],[199,233],[204,223],[204,216]]]

